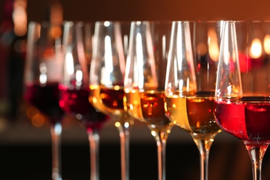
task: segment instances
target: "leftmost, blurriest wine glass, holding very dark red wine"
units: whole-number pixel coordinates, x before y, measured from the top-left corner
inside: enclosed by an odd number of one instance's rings
[[[32,118],[48,118],[52,138],[52,178],[62,179],[61,120],[58,84],[62,79],[62,27],[30,22],[24,75],[24,98],[33,106]]]

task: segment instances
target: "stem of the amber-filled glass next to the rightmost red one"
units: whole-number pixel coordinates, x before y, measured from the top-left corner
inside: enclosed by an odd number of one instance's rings
[[[216,134],[195,134],[192,133],[191,136],[193,141],[196,143],[199,154],[200,154],[200,179],[208,179],[208,158],[210,147],[214,141]]]

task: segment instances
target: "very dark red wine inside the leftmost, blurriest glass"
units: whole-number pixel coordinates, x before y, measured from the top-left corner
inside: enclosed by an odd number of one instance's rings
[[[26,84],[25,100],[42,113],[46,114],[51,123],[60,122],[64,111],[59,106],[59,90],[57,82],[41,84]]]

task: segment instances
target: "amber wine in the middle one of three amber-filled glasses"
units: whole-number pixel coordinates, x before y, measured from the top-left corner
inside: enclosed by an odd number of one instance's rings
[[[172,122],[165,115],[164,92],[138,90],[125,91],[125,105],[128,113],[134,118],[147,123],[152,128],[168,129]]]

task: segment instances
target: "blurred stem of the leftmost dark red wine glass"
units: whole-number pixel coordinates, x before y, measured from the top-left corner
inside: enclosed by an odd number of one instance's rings
[[[53,156],[53,180],[62,180],[61,172],[61,123],[55,123],[51,125],[51,138],[52,138],[52,156]]]

